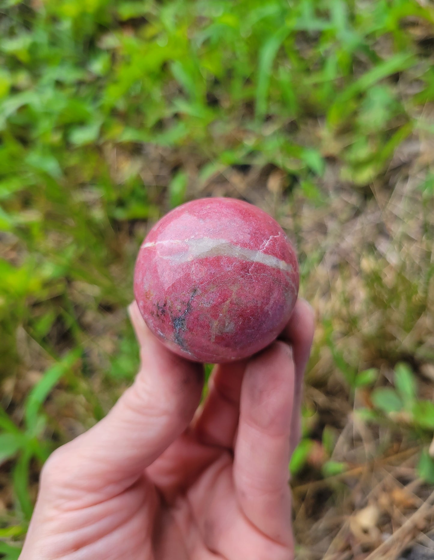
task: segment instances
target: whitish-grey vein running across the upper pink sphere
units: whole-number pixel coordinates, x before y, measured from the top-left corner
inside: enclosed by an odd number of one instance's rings
[[[276,237],[276,236],[271,236]],[[271,239],[271,238],[270,238]],[[268,239],[268,242],[270,241]],[[150,247],[156,247],[158,245],[187,245],[188,251],[180,251],[175,255],[162,256],[162,259],[176,260],[178,263],[185,263],[188,260],[194,258],[206,258],[212,256],[233,256],[238,259],[243,259],[250,261],[252,263],[265,264],[271,268],[276,268],[277,270],[282,270],[282,272],[293,272],[293,267],[286,263],[284,260],[278,259],[276,256],[268,255],[263,253],[266,249],[267,244],[262,249],[258,251],[253,251],[252,249],[245,249],[239,245],[234,245],[226,239],[210,239],[209,237],[202,237],[201,239],[188,239],[185,241],[168,239],[164,241],[154,241],[145,243],[141,246],[141,249],[148,249]]]

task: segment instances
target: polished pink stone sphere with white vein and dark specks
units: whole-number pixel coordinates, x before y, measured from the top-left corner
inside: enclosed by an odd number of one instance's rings
[[[297,258],[279,224],[252,204],[203,198],[150,230],[134,295],[150,330],[189,360],[223,363],[262,350],[298,296]]]

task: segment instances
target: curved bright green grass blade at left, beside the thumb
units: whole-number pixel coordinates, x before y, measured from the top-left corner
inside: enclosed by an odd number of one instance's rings
[[[81,356],[79,349],[68,352],[66,356],[54,366],[51,366],[30,391],[25,404],[26,427],[31,433],[37,425],[39,409],[49,395],[51,389],[58,383],[61,377],[67,372]]]

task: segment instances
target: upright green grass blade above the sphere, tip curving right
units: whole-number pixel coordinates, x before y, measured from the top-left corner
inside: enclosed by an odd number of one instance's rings
[[[289,33],[289,27],[281,27],[275,34],[268,38],[261,47],[256,86],[256,116],[258,119],[262,119],[267,113],[268,90],[270,89],[273,62]]]

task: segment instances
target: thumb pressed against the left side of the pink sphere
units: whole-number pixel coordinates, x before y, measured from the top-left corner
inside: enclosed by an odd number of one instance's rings
[[[135,302],[129,313],[141,357],[134,384],[101,422],[54,454],[60,477],[76,486],[129,486],[186,429],[200,402],[202,366],[169,352]]]

